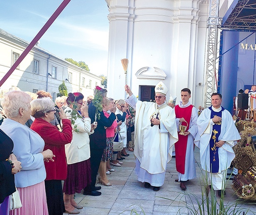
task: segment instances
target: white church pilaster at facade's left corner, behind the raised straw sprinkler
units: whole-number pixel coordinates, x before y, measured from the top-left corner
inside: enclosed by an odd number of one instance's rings
[[[109,54],[108,54],[108,74],[107,88],[108,96],[115,96],[115,89],[124,92],[125,75],[121,59],[128,58],[129,66],[132,59],[132,35],[134,19],[134,0],[107,0],[110,14]],[[127,74],[127,80],[131,79],[131,74]],[[117,93],[120,95],[120,93]],[[125,96],[122,94],[122,98]]]

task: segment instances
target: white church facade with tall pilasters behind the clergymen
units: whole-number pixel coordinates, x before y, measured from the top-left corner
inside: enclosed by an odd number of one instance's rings
[[[106,0],[110,14],[108,95],[124,98],[127,84],[139,99],[154,96],[163,81],[169,95],[188,87],[193,105],[204,103],[208,0]],[[222,14],[230,2],[221,1]],[[224,9],[223,9],[224,7]]]

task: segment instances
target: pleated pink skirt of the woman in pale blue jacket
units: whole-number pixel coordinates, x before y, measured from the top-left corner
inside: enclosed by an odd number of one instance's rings
[[[48,215],[44,181],[17,189],[22,207],[10,210],[10,215]]]

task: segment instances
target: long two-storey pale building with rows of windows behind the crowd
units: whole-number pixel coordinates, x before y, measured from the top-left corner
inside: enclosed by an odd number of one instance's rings
[[[29,43],[0,29],[0,79],[9,71]],[[101,78],[85,69],[35,45],[11,76],[0,87],[8,90],[18,86],[22,91],[51,93],[53,100],[59,93],[59,85],[65,82],[68,92],[81,92],[85,97],[93,95]]]

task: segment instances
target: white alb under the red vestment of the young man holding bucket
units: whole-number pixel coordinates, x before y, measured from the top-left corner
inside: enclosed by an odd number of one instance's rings
[[[191,103],[188,102],[187,104],[183,105],[182,102],[180,102],[180,104],[178,105],[180,108],[187,108],[189,105],[191,105]],[[180,172],[178,172],[179,181],[187,181],[189,179],[196,178],[194,139],[197,134],[197,118],[198,118],[197,109],[193,107],[191,118],[190,118],[189,129],[188,129],[190,134],[188,135],[188,142],[187,142],[187,149],[186,149],[186,156],[185,156],[185,173],[181,174]],[[180,120],[179,118],[176,118],[176,125],[177,125],[178,131],[179,131],[179,120]]]

